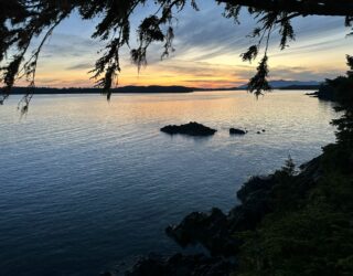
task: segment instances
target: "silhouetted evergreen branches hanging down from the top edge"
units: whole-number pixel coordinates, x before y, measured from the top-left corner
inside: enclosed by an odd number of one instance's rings
[[[154,4],[156,12],[146,17],[138,26],[138,46],[130,51],[131,61],[140,70],[147,64],[147,50],[153,42],[162,42],[162,59],[173,49],[173,24],[175,13],[191,4],[195,10],[196,0],[0,0],[0,81],[3,84],[0,104],[10,95],[19,78],[29,82],[28,94],[22,99],[25,112],[35,86],[35,70],[40,52],[53,30],[73,11],[83,20],[100,19],[92,34],[106,41],[101,56],[92,70],[96,86],[101,87],[107,98],[110,88],[121,71],[119,50],[129,45],[131,14],[147,2]],[[248,89],[257,96],[270,89],[268,76],[268,44],[271,34],[280,34],[279,46],[285,50],[295,39],[291,20],[308,15],[335,15],[345,18],[345,25],[353,23],[353,0],[215,0],[224,6],[224,17],[239,22],[242,9],[247,9],[258,22],[252,36],[257,43],[242,55],[244,61],[254,61],[264,50],[256,75],[249,81]],[[34,39],[41,38],[36,50],[25,59]]]

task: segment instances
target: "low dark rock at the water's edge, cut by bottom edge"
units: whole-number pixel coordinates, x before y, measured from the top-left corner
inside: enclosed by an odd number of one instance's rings
[[[236,268],[235,264],[222,257],[207,257],[203,254],[181,255],[164,258],[156,255],[140,259],[126,276],[227,276]]]

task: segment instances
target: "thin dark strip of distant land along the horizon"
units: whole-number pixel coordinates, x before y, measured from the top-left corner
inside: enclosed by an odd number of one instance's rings
[[[319,89],[320,82],[300,82],[300,81],[271,81],[269,82],[274,89],[307,89],[314,91]],[[247,85],[242,85],[238,87],[217,87],[217,88],[200,88],[200,87],[186,87],[179,85],[162,86],[162,85],[150,85],[150,86],[122,86],[113,88],[114,94],[129,94],[129,93],[147,93],[147,94],[159,94],[159,93],[192,93],[192,92],[206,92],[206,91],[246,91]],[[26,94],[26,87],[13,87],[13,95]],[[67,88],[53,88],[53,87],[36,87],[35,94],[38,95],[51,95],[51,94],[100,94],[100,88],[85,88],[85,87],[67,87]]]

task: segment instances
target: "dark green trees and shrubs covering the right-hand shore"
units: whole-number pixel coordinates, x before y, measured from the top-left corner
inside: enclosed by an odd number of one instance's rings
[[[336,144],[301,173],[276,174],[271,212],[244,236],[237,275],[353,275],[353,59],[346,76],[328,79],[318,97],[338,103]],[[309,181],[311,180],[311,181]]]

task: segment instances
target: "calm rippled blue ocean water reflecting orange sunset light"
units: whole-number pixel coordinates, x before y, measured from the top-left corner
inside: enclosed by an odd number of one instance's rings
[[[109,104],[36,96],[22,119],[10,98],[0,106],[0,275],[98,275],[139,254],[181,251],[168,224],[227,211],[250,176],[334,141],[331,105],[303,93],[133,94]],[[159,131],[193,120],[218,132]],[[249,134],[231,137],[229,127]]]

